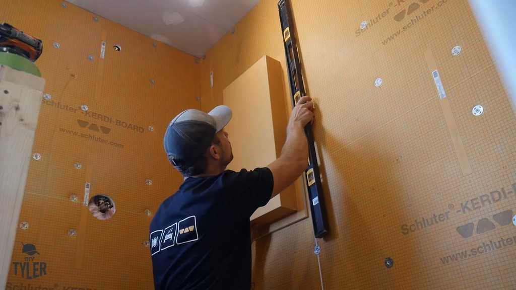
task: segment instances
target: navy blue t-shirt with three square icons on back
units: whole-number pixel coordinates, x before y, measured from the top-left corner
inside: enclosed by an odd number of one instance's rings
[[[272,188],[268,168],[186,179],[151,221],[155,289],[249,290],[249,218]]]

